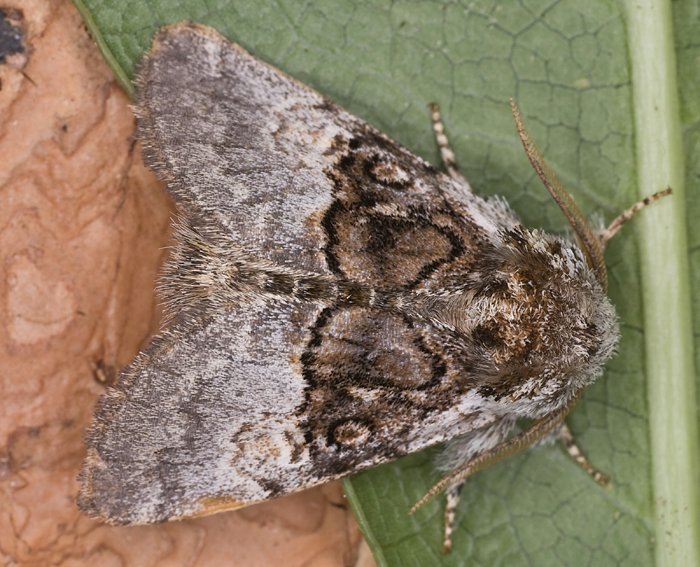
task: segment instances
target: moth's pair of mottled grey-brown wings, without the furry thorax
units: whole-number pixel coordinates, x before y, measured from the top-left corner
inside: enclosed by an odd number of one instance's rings
[[[505,207],[192,24],[156,38],[137,114],[183,216],[178,312],[98,406],[84,510],[211,513],[493,419],[454,330],[410,303],[464,286]]]

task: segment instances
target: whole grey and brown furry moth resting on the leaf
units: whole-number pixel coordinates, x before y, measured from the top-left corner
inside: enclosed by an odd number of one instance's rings
[[[464,478],[556,432],[613,354],[603,248],[644,203],[594,234],[515,111],[578,243],[526,229],[471,191],[437,108],[447,174],[196,24],[157,34],[136,87],[180,217],[164,329],[98,403],[80,508],[202,516],[446,443],[426,496],[447,490],[449,547]]]

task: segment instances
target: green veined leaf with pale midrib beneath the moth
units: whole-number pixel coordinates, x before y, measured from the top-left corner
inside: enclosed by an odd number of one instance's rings
[[[426,110],[436,101],[472,187],[507,197],[528,226],[561,231],[565,221],[523,155],[509,96],[586,213],[610,221],[672,185],[673,197],[606,253],[620,352],[569,419],[610,487],[559,446],[533,448],[469,479],[447,557],[443,503],[407,513],[439,476],[436,450],[359,474],[346,489],[379,565],[700,564],[691,327],[694,315],[697,337],[700,228],[686,230],[700,213],[698,0],[76,5],[127,89],[152,33],[189,19],[437,164]]]

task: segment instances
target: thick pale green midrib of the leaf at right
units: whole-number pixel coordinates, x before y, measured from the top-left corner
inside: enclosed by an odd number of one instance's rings
[[[659,567],[700,565],[698,428],[684,163],[671,3],[626,0],[640,198],[673,188],[639,219],[652,483]]]

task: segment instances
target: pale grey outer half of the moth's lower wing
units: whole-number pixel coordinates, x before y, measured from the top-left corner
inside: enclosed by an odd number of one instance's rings
[[[310,483],[292,418],[304,399],[308,321],[291,306],[262,303],[188,315],[98,404],[79,496],[91,516],[165,521],[264,500],[278,481],[285,491]]]

